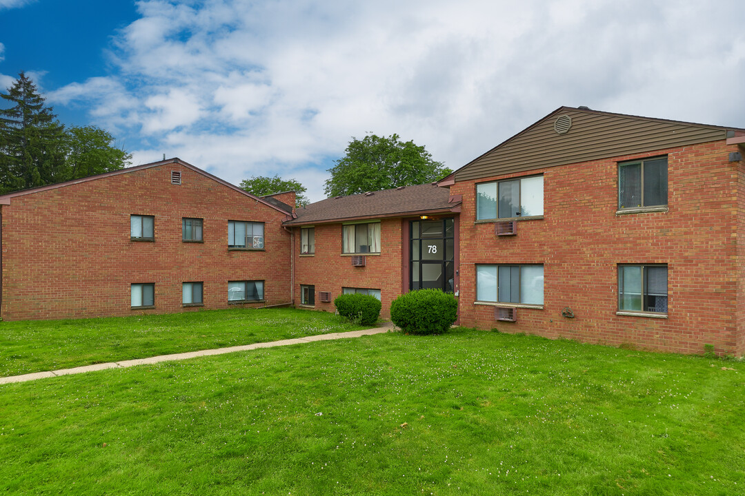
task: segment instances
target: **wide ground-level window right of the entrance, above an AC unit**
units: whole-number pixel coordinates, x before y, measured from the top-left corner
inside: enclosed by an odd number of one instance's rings
[[[543,304],[543,265],[476,265],[476,299]]]

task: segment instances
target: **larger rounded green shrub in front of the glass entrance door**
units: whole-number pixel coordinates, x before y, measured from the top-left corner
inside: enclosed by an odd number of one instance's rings
[[[419,289],[390,303],[390,320],[411,334],[442,334],[457,319],[458,302],[440,289]]]

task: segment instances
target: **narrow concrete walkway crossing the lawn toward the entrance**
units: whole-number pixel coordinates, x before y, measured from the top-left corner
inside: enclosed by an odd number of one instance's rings
[[[239,347],[217,348],[215,350],[191,351],[186,353],[174,353],[173,355],[151,356],[150,358],[136,358],[135,360],[112,361],[107,364],[86,365],[85,367],[75,367],[74,369],[50,370],[48,372],[37,372],[25,374],[23,376],[0,377],[0,384],[10,384],[11,382],[34,381],[44,379],[45,377],[69,376],[70,374],[81,374],[84,372],[94,372],[95,370],[119,369],[124,367],[134,367],[135,365],[157,364],[161,361],[186,360],[188,358],[197,358],[200,356],[223,355],[223,353],[232,353],[236,351],[258,350],[259,348],[271,348],[288,346],[289,344],[311,343],[313,341],[329,341],[332,339],[359,338],[361,336],[370,336],[381,334],[396,329],[392,322],[387,322],[382,327],[373,329],[362,329],[351,332],[335,332],[333,334],[319,334],[308,336],[307,338],[283,339],[282,341],[269,341],[267,343],[246,344]]]

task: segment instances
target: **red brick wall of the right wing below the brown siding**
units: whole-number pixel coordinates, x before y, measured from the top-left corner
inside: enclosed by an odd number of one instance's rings
[[[463,195],[461,323],[669,352],[700,353],[713,344],[741,354],[736,234],[743,186],[738,164],[728,160],[732,151],[719,141],[513,175],[544,174],[545,218],[521,221],[516,236],[500,238],[492,223],[474,222],[475,181],[454,184],[451,193]],[[618,161],[665,154],[669,210],[616,215]],[[474,304],[478,263],[544,264],[544,308],[518,309],[516,323],[495,321],[493,306]],[[618,263],[668,264],[668,318],[616,315]],[[562,317],[566,306],[575,318]]]

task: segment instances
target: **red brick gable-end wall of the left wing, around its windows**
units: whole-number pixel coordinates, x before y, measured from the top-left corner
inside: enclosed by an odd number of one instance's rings
[[[180,170],[183,184],[171,184]],[[130,240],[130,214],[155,216],[155,242]],[[182,217],[203,243],[181,240]],[[290,303],[285,214],[179,164],[13,198],[2,206],[5,320],[191,310],[183,282],[203,281],[204,307],[227,308],[229,280],[264,280],[265,303]],[[228,220],[265,222],[266,251],[228,251]],[[155,283],[155,309],[130,309],[130,284]]]

